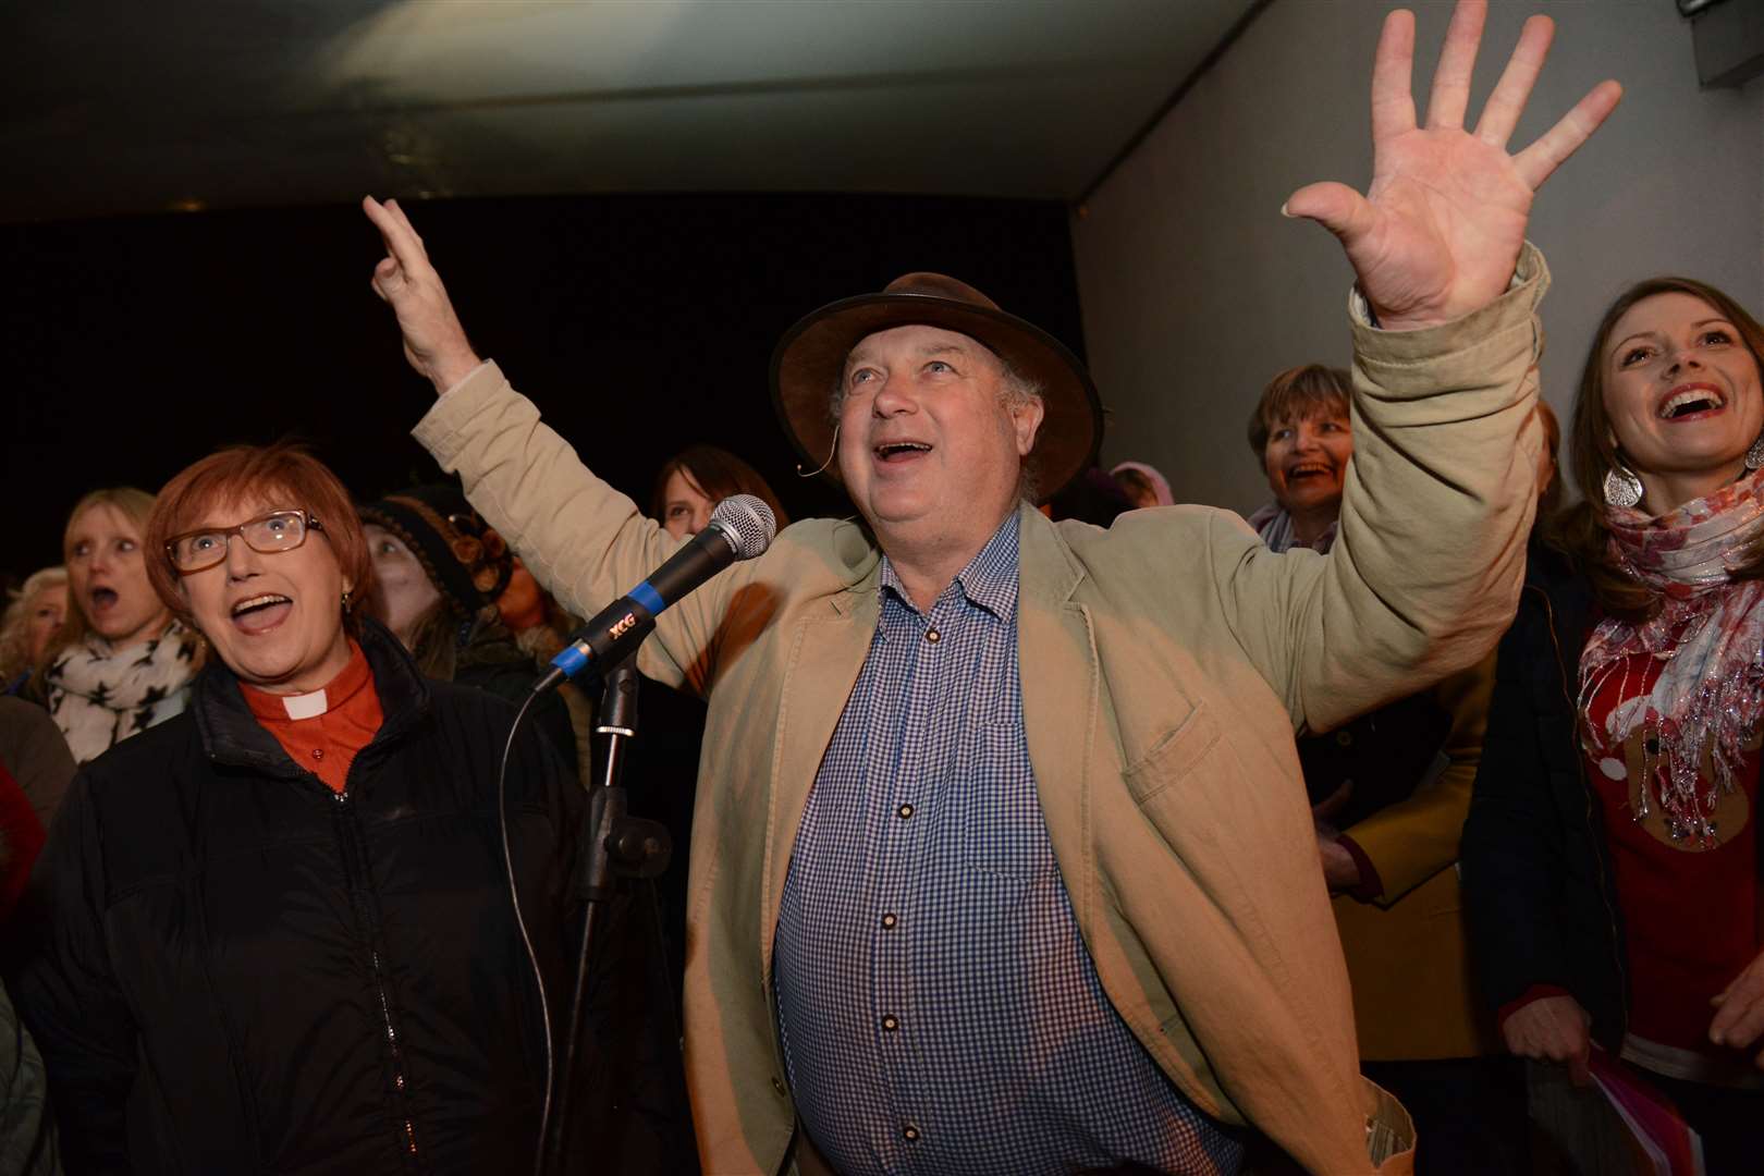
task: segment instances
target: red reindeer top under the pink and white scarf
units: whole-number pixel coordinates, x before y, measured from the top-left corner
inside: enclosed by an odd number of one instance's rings
[[[1588,700],[1588,723],[1603,732],[1612,707],[1653,689],[1660,661],[1633,654],[1628,665],[1605,675]],[[1619,696],[1621,695],[1621,696]],[[1588,749],[1588,774],[1605,816],[1618,906],[1630,970],[1630,1033],[1662,1046],[1730,1060],[1732,1051],[1709,1042],[1715,1007],[1709,998],[1725,989],[1759,954],[1757,829],[1759,751],[1736,765],[1734,793],[1716,806],[1716,843],[1674,843],[1662,820],[1658,779],[1646,781],[1648,816],[1635,820],[1635,795],[1658,744],[1646,748],[1642,732],[1626,746],[1605,753]],[[1704,758],[1708,770],[1708,758]],[[1699,776],[1699,792],[1708,786]]]

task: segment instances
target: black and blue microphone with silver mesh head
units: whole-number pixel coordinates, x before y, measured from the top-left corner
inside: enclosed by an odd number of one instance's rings
[[[570,635],[552,658],[552,670],[533,688],[542,695],[589,663],[614,665],[649,636],[654,619],[737,559],[753,559],[778,534],[771,508],[751,494],[736,494],[716,504],[711,525],[686,541],[647,580],[612,601],[594,619]]]

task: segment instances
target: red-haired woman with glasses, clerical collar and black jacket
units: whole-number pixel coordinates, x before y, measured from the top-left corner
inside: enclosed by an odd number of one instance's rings
[[[526,1169],[580,788],[526,732],[499,792],[513,709],[362,619],[367,540],[312,457],[203,458],[145,532],[213,656],[37,866],[14,1000],[67,1171]]]

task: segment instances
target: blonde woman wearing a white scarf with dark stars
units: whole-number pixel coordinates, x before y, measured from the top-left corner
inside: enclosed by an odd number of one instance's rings
[[[49,644],[44,698],[85,763],[183,711],[201,640],[153,596],[141,536],[153,495],[93,490],[62,536],[67,621]]]

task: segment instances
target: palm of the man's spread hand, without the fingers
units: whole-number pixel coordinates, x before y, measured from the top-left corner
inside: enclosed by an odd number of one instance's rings
[[[1498,298],[1531,215],[1512,157],[1464,130],[1379,145],[1364,236],[1344,242],[1379,323],[1443,323]]]

